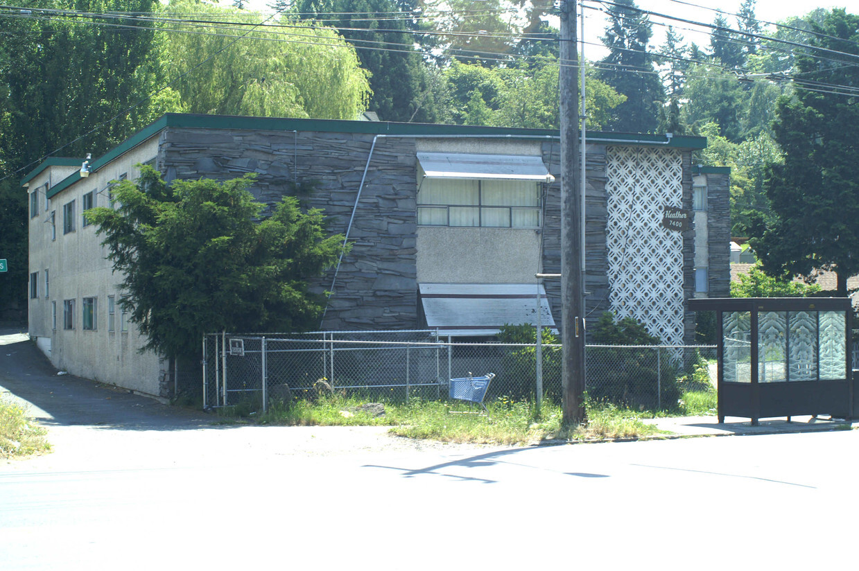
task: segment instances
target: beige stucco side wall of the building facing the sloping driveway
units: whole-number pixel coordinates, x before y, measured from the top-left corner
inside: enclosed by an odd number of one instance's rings
[[[122,276],[113,274],[107,260],[107,249],[101,246],[101,237],[95,234],[95,226],[83,226],[82,197],[94,191],[94,206],[107,206],[107,184],[127,173],[131,179],[137,177],[135,164],[155,157],[157,142],[153,139],[132,149],[117,160],[108,163],[88,178],[52,197],[49,209],[40,204],[40,215],[30,219],[30,272],[39,272],[39,297],[29,300],[29,332],[37,337],[37,344],[57,368],[67,370],[87,379],[116,384],[125,388],[158,396],[160,360],[157,355],[138,353],[143,338],[133,325],[129,331],[119,331],[119,304],[116,307],[115,331],[107,331],[107,296],[114,295],[119,301],[119,282]],[[44,185],[48,179],[52,184],[62,180],[52,167],[40,173],[29,183],[29,188]],[[64,173],[69,172],[64,168]],[[76,169],[71,169],[72,171]],[[44,197],[41,198],[44,200]],[[63,232],[64,204],[75,201],[75,229]],[[55,212],[56,240],[52,240],[49,216]],[[49,291],[45,291],[45,270],[50,272]],[[97,310],[95,328],[82,329],[82,298],[95,297]],[[74,300],[74,329],[63,328],[63,302]],[[52,329],[52,302],[57,303],[57,329]],[[39,339],[42,339],[41,341]],[[46,340],[50,339],[50,342]]]

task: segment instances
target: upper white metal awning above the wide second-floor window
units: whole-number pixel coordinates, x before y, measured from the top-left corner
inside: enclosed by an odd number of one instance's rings
[[[417,153],[424,176],[434,179],[507,179],[551,182],[543,159],[533,155]]]

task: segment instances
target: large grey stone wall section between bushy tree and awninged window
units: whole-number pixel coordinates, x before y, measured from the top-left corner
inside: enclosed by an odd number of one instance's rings
[[[294,194],[296,176],[313,181],[302,200],[324,210],[336,234],[349,224],[372,144],[373,135],[360,133],[174,128],[161,132],[157,164],[168,180],[258,173],[251,191],[265,203]],[[417,327],[416,161],[413,139],[376,140],[349,234],[352,250],[320,329]],[[332,276],[314,279],[314,289],[330,289]]]

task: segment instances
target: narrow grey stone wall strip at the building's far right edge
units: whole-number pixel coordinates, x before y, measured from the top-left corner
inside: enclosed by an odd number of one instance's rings
[[[731,205],[730,175],[707,174],[707,288],[710,297],[730,297]]]

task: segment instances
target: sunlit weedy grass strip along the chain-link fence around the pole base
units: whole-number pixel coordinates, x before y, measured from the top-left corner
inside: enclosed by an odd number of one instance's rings
[[[315,401],[295,400],[288,406],[272,405],[256,413],[249,405],[219,411],[223,423],[253,422],[286,426],[390,426],[391,433],[443,442],[525,445],[541,440],[611,440],[660,434],[643,422],[645,413],[612,404],[588,402],[588,425],[574,430],[561,426],[561,408],[544,403],[541,410],[527,401],[498,398],[487,404],[489,415],[461,402],[420,400],[408,404],[385,403],[385,415],[358,410],[366,401],[341,395]]]

